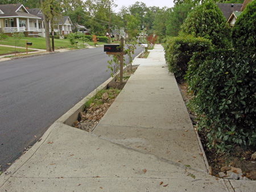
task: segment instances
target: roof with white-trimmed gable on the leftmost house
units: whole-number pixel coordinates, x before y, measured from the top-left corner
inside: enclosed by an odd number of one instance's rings
[[[0,10],[3,12],[3,14],[0,14],[1,18],[40,19],[38,16],[30,14],[22,4],[0,5]]]

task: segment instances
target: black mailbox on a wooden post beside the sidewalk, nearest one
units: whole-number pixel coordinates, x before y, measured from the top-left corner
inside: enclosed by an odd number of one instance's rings
[[[106,55],[115,55],[120,61],[120,85],[123,84],[123,55],[126,55],[126,52],[123,52],[123,37],[121,38],[121,44],[107,44],[104,45],[104,51]]]

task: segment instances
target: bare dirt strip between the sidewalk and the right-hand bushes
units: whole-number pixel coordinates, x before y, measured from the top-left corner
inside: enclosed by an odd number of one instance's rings
[[[186,82],[182,84],[178,84],[180,93],[183,97],[184,102],[187,104],[191,96],[188,94],[188,86]],[[197,127],[196,114],[189,110],[189,116],[192,120],[193,126]],[[234,150],[229,153],[217,153],[215,148],[209,149],[207,147],[208,139],[207,134],[208,131],[202,129],[199,133],[199,137],[201,143],[203,145],[205,155],[207,156],[207,160],[210,168],[212,169],[212,175],[219,177],[218,173],[222,172],[225,166],[240,168],[242,169],[243,176],[249,178],[250,180],[256,180],[256,162],[255,160],[251,160],[251,155],[255,152],[255,149],[242,149],[239,146],[234,146]],[[226,173],[226,172],[225,172]]]

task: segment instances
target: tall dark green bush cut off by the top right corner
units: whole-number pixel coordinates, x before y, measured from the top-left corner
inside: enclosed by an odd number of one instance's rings
[[[256,51],[256,1],[252,1],[238,16],[232,28],[232,41],[234,48],[246,48]]]

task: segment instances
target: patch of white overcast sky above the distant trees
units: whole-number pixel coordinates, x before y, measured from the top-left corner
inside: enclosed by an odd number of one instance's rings
[[[114,9],[115,12],[119,12],[119,9],[121,9],[123,5],[125,6],[133,5],[137,1],[145,3],[147,7],[156,6],[156,7],[162,8],[164,6],[167,6],[167,7],[174,6],[174,0],[114,0],[114,1],[115,1],[115,4],[118,5]]]

